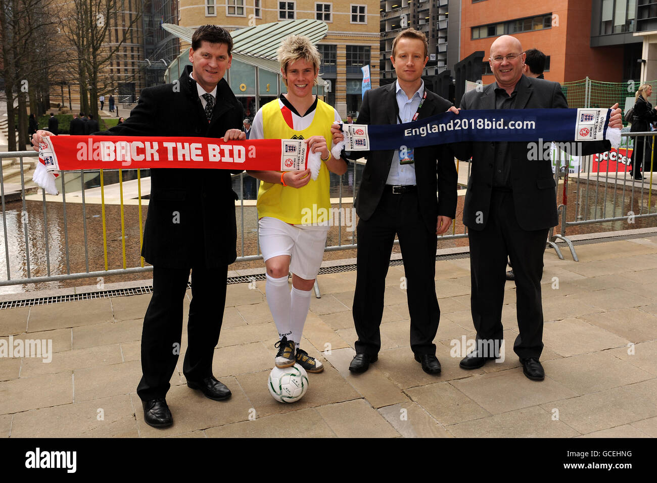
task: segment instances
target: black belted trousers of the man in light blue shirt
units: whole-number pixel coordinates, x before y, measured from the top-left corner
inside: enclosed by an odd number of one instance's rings
[[[374,214],[357,225],[357,272],[353,294],[356,352],[374,356],[381,348],[380,325],[388,263],[395,239],[404,261],[406,292],[411,314],[411,349],[436,354],[433,343],[440,308],[436,298],[436,232],[430,233],[420,217],[417,193],[384,193]],[[400,282],[401,284],[401,282]]]

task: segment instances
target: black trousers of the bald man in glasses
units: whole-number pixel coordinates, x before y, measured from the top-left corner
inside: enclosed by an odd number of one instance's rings
[[[490,213],[482,231],[468,230],[470,240],[470,308],[477,339],[501,344],[507,256],[516,281],[516,315],[520,334],[513,350],[518,357],[543,351],[541,277],[548,229],[525,231],[516,221],[513,194],[493,190]],[[497,342],[495,342],[497,341]],[[499,347],[499,345],[497,346]]]

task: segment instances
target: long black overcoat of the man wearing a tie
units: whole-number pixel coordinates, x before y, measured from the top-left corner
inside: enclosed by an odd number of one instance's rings
[[[242,126],[244,113],[221,80],[208,123],[185,68],[179,81],[148,87],[124,123],[100,134],[127,136],[223,137]],[[153,169],[142,255],[152,265],[220,267],[235,262],[237,227],[231,173],[213,169]],[[177,218],[179,223],[174,223]]]

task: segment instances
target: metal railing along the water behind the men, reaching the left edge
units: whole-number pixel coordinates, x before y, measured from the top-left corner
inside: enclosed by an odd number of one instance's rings
[[[0,152],[0,160],[18,158],[20,169],[20,187],[16,183],[17,189],[12,193],[5,193],[10,185],[3,181],[0,188],[3,220],[3,242],[0,248],[4,251],[2,258],[5,264],[5,269],[0,269],[0,287],[152,271],[152,266],[145,264],[141,257],[145,203],[142,198],[143,179],[140,170],[136,170],[134,180],[124,179],[126,170],[60,172],[58,183],[64,188],[58,187],[60,195],[50,196],[46,195],[43,189],[26,189],[24,160],[36,157],[37,153],[34,151]],[[351,163],[348,173],[340,176],[339,182],[332,188],[338,195],[337,200],[333,198],[332,203],[332,211],[337,219],[331,223],[328,240],[332,241],[332,244],[329,243],[325,247],[327,252],[353,250],[357,246],[357,219],[353,198],[360,181],[357,169],[359,164],[362,163]],[[135,170],[128,171],[134,177]],[[99,190],[85,186],[90,175],[99,179]],[[108,176],[117,182],[108,183]],[[234,175],[234,189],[239,195],[236,202],[236,262],[262,260],[255,200],[244,200],[245,176],[248,177],[246,173]],[[1,177],[3,168],[0,164]],[[127,182],[137,183],[135,199],[124,193],[124,185]],[[345,186],[345,183],[348,185]],[[117,185],[118,202],[110,203],[108,191],[116,191]],[[90,189],[95,190],[91,195]],[[344,196],[344,193],[351,196]],[[14,206],[7,206],[12,194],[16,199],[20,198],[20,211],[18,206],[15,206],[17,202],[11,202]],[[115,198],[116,196],[114,195]],[[137,214],[134,204],[137,205]],[[348,219],[345,219],[347,217]],[[97,223],[97,219],[100,219],[101,223]],[[89,226],[90,223],[93,226]],[[467,236],[465,231],[455,233],[455,229],[453,224],[451,235],[442,235],[440,238]],[[99,248],[101,239],[102,250]],[[398,244],[398,241],[395,243]],[[0,260],[0,266],[1,264]]]

